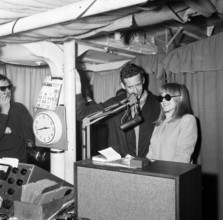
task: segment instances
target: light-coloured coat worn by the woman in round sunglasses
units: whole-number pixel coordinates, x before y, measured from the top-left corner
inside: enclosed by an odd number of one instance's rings
[[[197,142],[197,122],[186,114],[154,128],[147,158],[189,163]]]

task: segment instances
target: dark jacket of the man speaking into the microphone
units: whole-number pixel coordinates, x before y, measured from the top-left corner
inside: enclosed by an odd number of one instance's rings
[[[96,104],[92,102],[86,106],[81,95],[77,96],[77,118],[83,119],[87,115],[103,110],[104,108],[113,105],[126,98],[126,95],[117,96],[109,99],[104,103]],[[127,131],[120,129],[121,121],[125,110],[117,114],[111,115],[106,118],[108,125],[108,147],[113,147],[122,157],[126,154],[136,156],[136,137],[134,127]],[[156,96],[148,92],[148,98],[141,110],[142,122],[139,127],[139,143],[138,143],[138,156],[146,157],[150,145],[150,138],[154,129],[154,122],[157,120],[160,112],[160,103],[157,101]],[[131,114],[128,114],[131,115]],[[131,116],[130,116],[131,117]],[[126,119],[129,120],[129,119]],[[122,121],[123,123],[125,122]]]

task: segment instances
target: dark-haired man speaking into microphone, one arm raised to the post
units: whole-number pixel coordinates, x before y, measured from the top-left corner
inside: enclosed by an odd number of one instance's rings
[[[128,107],[107,117],[108,146],[113,147],[122,157],[127,154],[146,157],[154,122],[160,112],[160,104],[151,92],[144,88],[145,71],[127,63],[120,71],[121,86],[125,93],[107,100],[104,103],[92,102],[86,105],[81,94],[80,77],[76,76],[77,119],[97,112],[127,98]]]

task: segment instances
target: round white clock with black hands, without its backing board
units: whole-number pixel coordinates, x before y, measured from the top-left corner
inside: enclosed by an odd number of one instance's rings
[[[62,124],[55,112],[40,112],[33,120],[33,131],[41,143],[53,144],[60,140]]]

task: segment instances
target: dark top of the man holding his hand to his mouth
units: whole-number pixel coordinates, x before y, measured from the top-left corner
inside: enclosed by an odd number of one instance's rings
[[[6,127],[11,129],[5,134]],[[21,103],[12,102],[8,115],[0,113],[0,158],[18,158],[27,162],[26,142],[34,142],[32,117]]]

